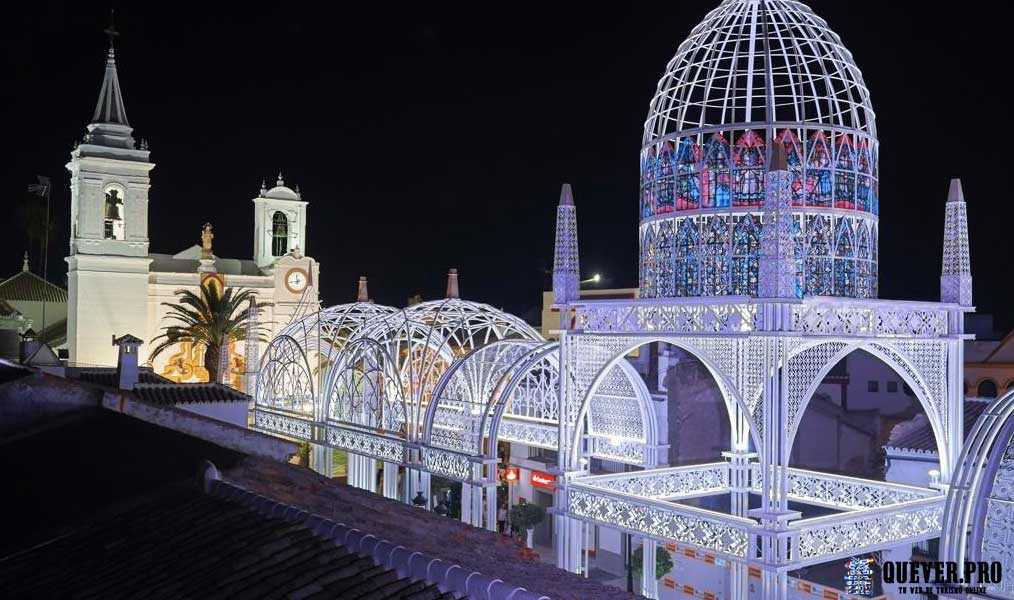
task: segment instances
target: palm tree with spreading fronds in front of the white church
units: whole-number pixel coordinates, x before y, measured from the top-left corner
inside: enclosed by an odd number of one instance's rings
[[[155,357],[182,342],[204,346],[204,368],[208,370],[208,379],[221,382],[218,372],[220,358],[222,352],[229,351],[230,342],[242,342],[248,335],[257,335],[259,341],[267,342],[262,325],[258,324],[252,331],[247,328],[247,307],[254,300],[252,291],[237,291],[235,288],[219,291],[217,286],[201,286],[200,294],[176,290],[175,295],[178,302],[162,302],[162,306],[169,309],[166,318],[171,323],[151,341],[155,347],[149,360],[155,360]],[[267,304],[257,305],[258,315],[264,306]]]

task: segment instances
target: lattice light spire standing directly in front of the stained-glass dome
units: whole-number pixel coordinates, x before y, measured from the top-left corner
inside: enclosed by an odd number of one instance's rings
[[[796,261],[793,255],[792,173],[789,172],[785,145],[778,141],[772,144],[768,172],[765,174],[764,211],[757,296],[801,297],[802,287],[796,282]]]

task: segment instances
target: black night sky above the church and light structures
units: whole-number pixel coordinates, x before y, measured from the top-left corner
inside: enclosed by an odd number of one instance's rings
[[[555,207],[574,185],[584,277],[637,285],[638,152],[658,78],[716,0],[468,4],[125,3],[117,44],[127,115],[152,172],[151,251],[215,225],[215,253],[250,257],[251,199],[281,170],[309,204],[321,299],[462,295],[537,321]],[[880,297],[939,296],[948,179],[968,201],[975,304],[1014,324],[1007,3],[814,2],[869,86],[881,143]],[[101,82],[108,3],[5,10],[8,233],[56,181],[50,277],[66,281],[68,173]],[[40,251],[33,250],[32,261]]]

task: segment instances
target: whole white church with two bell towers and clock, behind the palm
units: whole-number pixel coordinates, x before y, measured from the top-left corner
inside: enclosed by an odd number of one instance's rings
[[[167,254],[149,248],[150,172],[147,143],[138,143],[127,121],[113,45],[87,133],[71,152],[70,253],[67,351],[71,364],[113,366],[111,335],[133,334],[145,345],[165,326],[177,290],[197,292],[217,280],[250,289],[265,305],[259,317],[270,339],[307,306],[317,305],[317,262],[306,248],[307,202],[279,174],[254,199],[251,258],[204,257],[195,244]],[[195,239],[200,233],[195,223]],[[210,238],[209,248],[210,250]],[[202,259],[203,258],[203,259]],[[229,381],[240,387],[247,370],[244,344],[229,349]],[[257,347],[250,347],[250,350]],[[149,349],[142,347],[142,354]],[[203,349],[182,345],[157,357],[154,371],[176,381],[206,380]],[[256,360],[256,359],[255,359]]]

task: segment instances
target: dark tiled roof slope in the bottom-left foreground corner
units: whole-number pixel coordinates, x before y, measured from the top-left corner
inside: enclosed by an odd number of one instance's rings
[[[302,523],[190,484],[0,560],[0,589],[16,598],[452,598]]]

